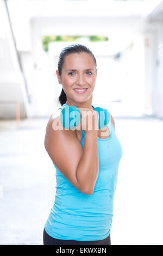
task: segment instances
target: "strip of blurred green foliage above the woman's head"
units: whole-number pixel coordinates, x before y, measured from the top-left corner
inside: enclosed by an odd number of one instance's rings
[[[97,41],[108,41],[109,39],[102,35],[44,35],[42,36],[42,45],[43,49],[48,52],[48,44],[49,42],[57,42],[57,41],[74,41],[77,42],[79,38],[89,38],[89,41],[97,42]]]

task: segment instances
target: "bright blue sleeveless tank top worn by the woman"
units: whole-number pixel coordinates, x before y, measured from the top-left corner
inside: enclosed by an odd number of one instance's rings
[[[110,234],[122,147],[110,121],[108,129],[109,138],[98,138],[99,172],[93,194],[77,190],[53,163],[57,185],[54,204],[45,223],[49,236],[62,240],[95,241]],[[82,131],[80,143],[83,148],[84,136]]]

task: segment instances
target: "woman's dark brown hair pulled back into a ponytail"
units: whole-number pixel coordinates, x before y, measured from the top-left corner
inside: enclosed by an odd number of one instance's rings
[[[87,48],[85,45],[80,45],[80,44],[68,45],[67,47],[65,47],[61,51],[61,53],[59,55],[59,59],[58,59],[58,72],[59,72],[60,76],[61,76],[62,66],[64,65],[65,57],[67,55],[71,54],[71,53],[82,53],[82,52],[86,52],[86,53],[90,54],[93,57],[93,60],[94,60],[95,65],[97,67],[96,58],[95,58],[94,54],[89,50],[89,48]],[[67,97],[66,97],[66,94],[65,94],[63,88],[61,90],[61,94],[58,97],[58,100],[59,100],[61,106],[64,103],[66,103],[66,101],[67,101]]]

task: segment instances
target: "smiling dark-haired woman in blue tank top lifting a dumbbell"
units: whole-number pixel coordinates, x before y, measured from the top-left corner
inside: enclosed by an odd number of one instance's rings
[[[56,74],[62,84],[61,108],[76,106],[82,129],[55,130],[53,125],[59,123],[59,116],[49,118],[45,148],[56,169],[57,186],[55,202],[43,230],[43,244],[110,245],[122,147],[111,114],[109,124],[96,129],[97,112],[92,105],[96,58],[84,45],[68,46],[60,53]],[[83,111],[93,120],[91,130],[88,120],[82,119]]]

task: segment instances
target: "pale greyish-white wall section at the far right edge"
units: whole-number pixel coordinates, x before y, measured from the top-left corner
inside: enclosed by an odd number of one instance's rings
[[[163,20],[145,26],[146,110],[163,117]]]

